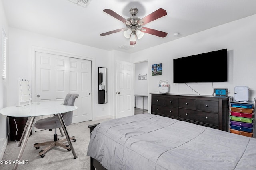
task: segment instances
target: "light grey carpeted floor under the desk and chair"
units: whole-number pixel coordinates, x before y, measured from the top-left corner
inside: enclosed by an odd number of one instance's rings
[[[36,149],[34,143],[53,140],[53,131],[38,131],[33,133],[29,138],[22,155],[21,160],[24,164],[18,165],[18,170],[88,170],[89,157],[87,148],[90,140],[90,129],[88,125],[101,123],[110,119],[103,119],[99,121],[86,121],[82,123],[75,123],[67,127],[69,136],[75,136],[76,142],[72,141],[74,150],[78,158],[74,159],[72,151],[68,152],[67,149],[62,147],[54,147],[46,152],[45,157],[38,156],[38,152],[44,148]],[[57,129],[58,138],[62,139],[60,131]],[[6,147],[4,157],[0,164],[0,170],[10,170],[14,167],[13,161],[17,159],[20,152],[18,143],[9,141]],[[10,164],[8,164],[10,162]]]

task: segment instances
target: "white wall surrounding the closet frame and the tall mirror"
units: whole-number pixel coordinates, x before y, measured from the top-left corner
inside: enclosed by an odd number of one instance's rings
[[[40,47],[44,49],[52,49],[54,51],[63,51],[65,53],[75,54],[78,56],[84,56],[93,58],[92,62],[92,77],[94,80],[95,87],[92,87],[92,100],[93,100],[93,119],[100,119],[109,117],[110,106],[109,104],[99,105],[98,104],[98,67],[106,67],[111,71],[110,68],[110,51],[96,49],[93,47],[72,43],[70,41],[64,41],[55,39],[52,37],[46,37],[36,33],[22,31],[20,29],[10,28],[9,29],[9,86],[7,89],[8,106],[14,105],[18,102],[18,78],[25,78],[32,80],[33,75],[33,63],[34,58],[33,48]],[[108,75],[110,76],[110,75]],[[33,87],[33,84],[31,84]],[[32,95],[33,96],[33,95]],[[33,98],[32,98],[33,101]],[[101,107],[104,107],[102,109]]]

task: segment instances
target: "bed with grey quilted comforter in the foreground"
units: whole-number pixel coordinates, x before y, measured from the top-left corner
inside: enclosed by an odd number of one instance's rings
[[[256,170],[254,138],[152,114],[91,128],[91,170]]]

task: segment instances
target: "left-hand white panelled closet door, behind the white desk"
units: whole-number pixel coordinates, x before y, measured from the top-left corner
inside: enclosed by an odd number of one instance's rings
[[[69,92],[68,57],[36,52],[34,102],[63,100]],[[38,116],[35,121],[50,117]],[[35,131],[41,129],[35,128]]]

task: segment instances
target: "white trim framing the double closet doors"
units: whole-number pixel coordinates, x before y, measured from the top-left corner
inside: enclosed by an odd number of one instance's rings
[[[35,61],[36,61],[36,52],[41,52],[41,53],[49,53],[49,54],[54,54],[54,55],[62,55],[66,57],[73,57],[76,59],[85,59],[85,60],[90,60],[92,62],[92,120],[95,119],[94,115],[94,101],[95,101],[95,59],[94,57],[87,57],[87,56],[82,56],[74,53],[68,53],[65,51],[58,51],[54,49],[48,49],[48,48],[43,48],[43,47],[37,47],[37,46],[32,46],[31,49],[31,56],[30,57],[30,65],[32,66],[32,77],[31,77],[31,88],[32,88],[32,102],[34,102],[33,98],[35,99],[36,94],[35,94],[35,73],[36,73],[36,68],[35,68]]]

